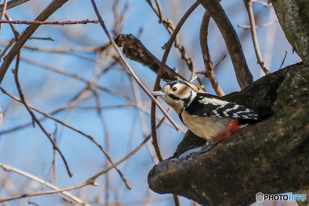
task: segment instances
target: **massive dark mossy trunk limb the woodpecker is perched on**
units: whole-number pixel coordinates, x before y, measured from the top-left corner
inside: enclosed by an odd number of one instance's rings
[[[188,131],[175,154],[149,172],[150,189],[201,205],[249,205],[255,194],[294,194],[309,188],[309,66],[266,75],[226,99],[265,120],[237,132],[207,153],[183,152],[205,140]]]

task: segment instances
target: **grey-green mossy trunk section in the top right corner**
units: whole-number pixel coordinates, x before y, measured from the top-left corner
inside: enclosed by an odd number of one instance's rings
[[[272,0],[286,39],[304,63],[309,63],[309,1]]]

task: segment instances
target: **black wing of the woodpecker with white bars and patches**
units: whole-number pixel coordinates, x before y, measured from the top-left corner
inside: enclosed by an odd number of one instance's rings
[[[194,116],[258,120],[257,113],[246,107],[225,101],[214,95],[203,93],[197,93],[195,99],[185,110],[189,115]]]

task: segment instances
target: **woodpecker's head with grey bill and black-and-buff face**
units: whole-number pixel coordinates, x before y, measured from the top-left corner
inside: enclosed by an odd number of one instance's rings
[[[185,82],[176,80],[168,82],[161,90],[151,94],[161,97],[179,115],[182,109],[189,106],[197,93]]]

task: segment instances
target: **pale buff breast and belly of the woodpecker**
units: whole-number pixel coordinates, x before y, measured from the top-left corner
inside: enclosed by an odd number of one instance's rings
[[[206,140],[224,132],[231,122],[231,118],[190,116],[185,110],[181,117],[191,132]]]

